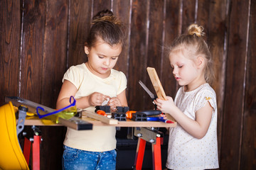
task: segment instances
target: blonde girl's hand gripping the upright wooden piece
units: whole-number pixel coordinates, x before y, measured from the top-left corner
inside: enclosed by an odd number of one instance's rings
[[[163,113],[171,114],[171,108],[174,107],[174,99],[171,98],[170,96],[166,96],[166,98],[167,98],[167,101],[156,98],[156,100],[154,100],[154,102],[157,105],[157,109],[159,109]]]

